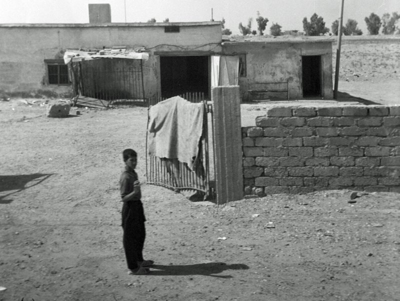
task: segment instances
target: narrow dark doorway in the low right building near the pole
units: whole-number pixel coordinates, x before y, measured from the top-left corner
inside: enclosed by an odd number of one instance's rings
[[[306,55],[301,59],[303,97],[321,96],[321,56]]]

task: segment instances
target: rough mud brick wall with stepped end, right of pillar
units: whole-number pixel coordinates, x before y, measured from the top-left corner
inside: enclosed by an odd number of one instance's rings
[[[400,106],[271,107],[242,127],[244,193],[400,192]]]

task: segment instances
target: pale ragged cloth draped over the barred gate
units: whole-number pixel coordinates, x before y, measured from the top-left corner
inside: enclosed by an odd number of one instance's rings
[[[203,129],[203,112],[203,103],[192,103],[179,96],[151,106],[147,125],[148,152],[160,158],[177,158],[194,170]]]

